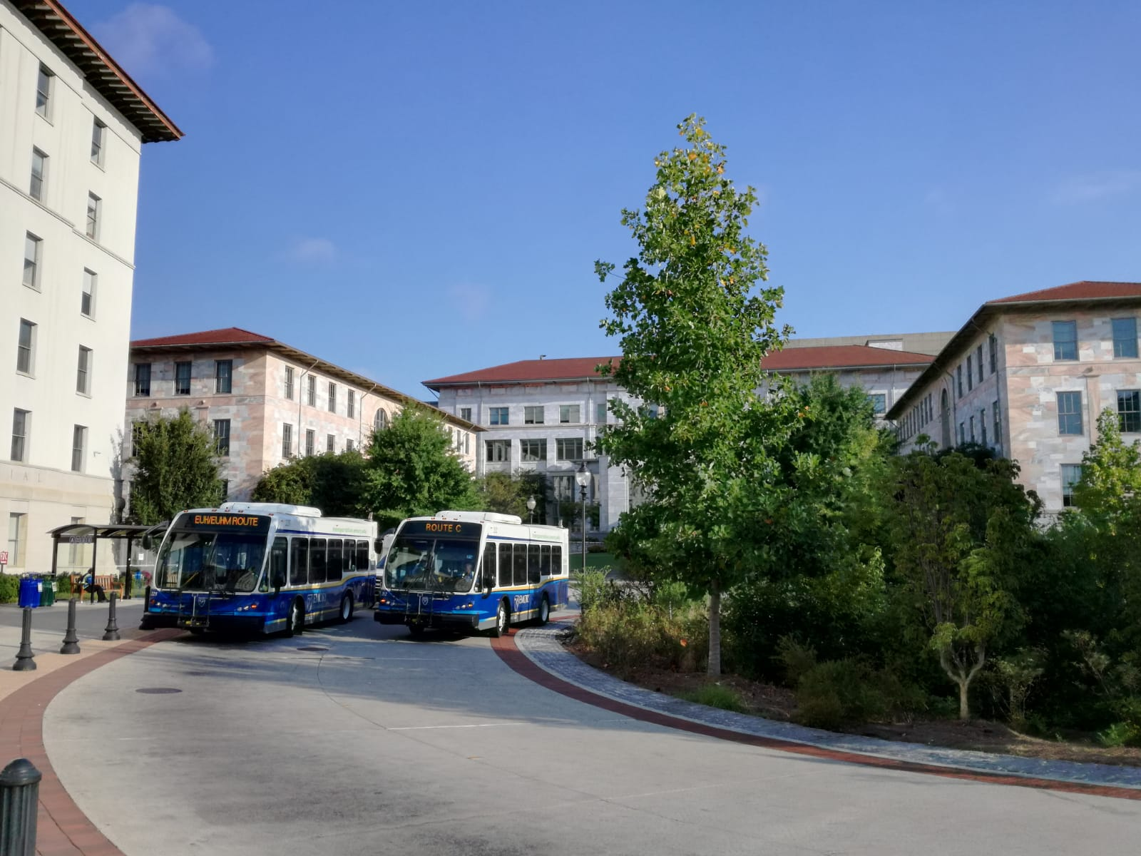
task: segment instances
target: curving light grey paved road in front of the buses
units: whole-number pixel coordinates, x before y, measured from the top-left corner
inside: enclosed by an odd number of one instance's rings
[[[636,721],[532,684],[487,639],[414,643],[366,615],[146,648],[63,691],[43,730],[63,784],[129,856],[1041,856],[1133,851],[1141,830],[1132,801]]]

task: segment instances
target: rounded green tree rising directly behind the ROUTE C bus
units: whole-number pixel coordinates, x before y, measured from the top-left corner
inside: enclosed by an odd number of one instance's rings
[[[475,479],[453,453],[444,420],[418,404],[405,405],[387,428],[373,431],[362,491],[381,528],[478,504]]]

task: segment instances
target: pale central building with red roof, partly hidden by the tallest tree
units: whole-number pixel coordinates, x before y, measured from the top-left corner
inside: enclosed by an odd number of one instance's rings
[[[890,345],[885,347],[844,341],[787,348],[766,357],[763,368],[801,382],[812,374],[835,374],[842,385],[866,390],[876,412],[883,414],[932,358],[929,354],[900,350],[899,337],[888,339]],[[591,476],[586,499],[598,503],[598,528],[606,532],[638,501],[629,474],[610,466],[606,455],[591,451],[598,433],[614,419],[609,399],[637,403],[594,371],[610,360],[618,357],[523,360],[426,380],[424,386],[439,396],[440,410],[480,426],[483,449],[476,462],[479,475],[543,474],[550,498],[561,503],[578,500],[575,473],[585,465]],[[552,518],[551,511],[545,522],[568,523],[557,516]]]

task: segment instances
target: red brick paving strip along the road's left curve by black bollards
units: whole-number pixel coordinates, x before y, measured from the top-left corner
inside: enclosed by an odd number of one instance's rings
[[[123,856],[59,783],[43,750],[43,711],[60,689],[100,665],[114,662],[180,630],[156,630],[113,648],[81,657],[48,672],[0,700],[0,759],[26,758],[43,774],[37,819],[35,851],[40,856]]]

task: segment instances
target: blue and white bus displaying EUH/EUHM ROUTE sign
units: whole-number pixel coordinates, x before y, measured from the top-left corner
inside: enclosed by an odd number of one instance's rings
[[[270,502],[181,511],[159,548],[141,627],[292,636],[371,607],[375,573],[372,520]]]

